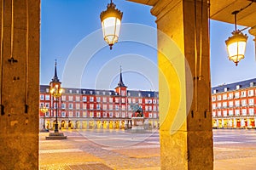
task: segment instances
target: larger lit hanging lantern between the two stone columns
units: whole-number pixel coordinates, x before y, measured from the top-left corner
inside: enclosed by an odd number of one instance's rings
[[[103,37],[110,49],[115,42],[118,42],[119,39],[119,31],[121,27],[121,20],[123,16],[123,12],[121,12],[118,8],[115,8],[115,4],[110,1],[107,6],[107,10],[102,11],[100,18],[102,21],[102,31]]]

